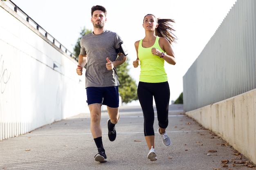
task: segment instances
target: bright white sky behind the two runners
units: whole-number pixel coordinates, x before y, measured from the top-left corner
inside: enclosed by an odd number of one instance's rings
[[[173,51],[177,64],[165,62],[171,100],[183,92],[183,76],[214,35],[236,0],[12,0],[22,11],[73,52],[81,29],[92,29],[91,8],[107,9],[106,29],[117,32],[128,48],[130,75],[139,82],[140,68],[133,68],[136,59],[134,43],[144,38],[143,18],[152,13],[157,18],[171,18],[177,44]],[[74,68],[75,71],[75,68]]]

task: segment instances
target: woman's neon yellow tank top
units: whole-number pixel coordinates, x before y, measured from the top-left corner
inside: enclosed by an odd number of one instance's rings
[[[142,47],[142,40],[139,41],[138,57],[141,69],[139,81],[146,83],[167,82],[167,74],[164,69],[164,59],[151,53],[151,49],[153,47],[164,52],[159,46],[159,37],[155,39],[155,44],[149,48]]]

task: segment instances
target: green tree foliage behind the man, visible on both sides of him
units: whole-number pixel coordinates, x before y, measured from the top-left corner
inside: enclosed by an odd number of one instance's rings
[[[83,35],[92,32],[92,30],[85,29],[85,27],[81,30],[80,37],[78,38],[76,45],[74,47],[74,55],[76,56],[74,59],[78,61],[78,56],[80,53],[80,40]],[[117,74],[119,77],[119,94],[122,97],[122,103],[129,103],[133,100],[137,100],[137,85],[134,79],[130,77],[129,69],[128,69],[129,59],[123,64],[117,66]]]

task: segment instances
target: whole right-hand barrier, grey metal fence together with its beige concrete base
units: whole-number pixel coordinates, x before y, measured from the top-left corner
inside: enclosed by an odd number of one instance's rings
[[[186,114],[254,163],[255,11],[255,0],[237,0],[183,77]]]

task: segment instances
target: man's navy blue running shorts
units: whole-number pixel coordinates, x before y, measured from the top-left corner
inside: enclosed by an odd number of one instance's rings
[[[87,103],[103,104],[110,108],[119,107],[119,93],[118,86],[110,87],[87,87]]]

